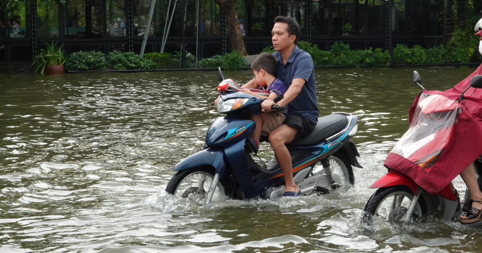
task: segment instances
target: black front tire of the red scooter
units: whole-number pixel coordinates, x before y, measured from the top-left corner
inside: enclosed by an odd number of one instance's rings
[[[372,217],[375,215],[380,204],[385,200],[390,194],[395,192],[406,192],[409,195],[414,196],[413,191],[408,186],[398,185],[398,186],[388,186],[377,189],[370,199],[366,202],[365,209],[362,214],[362,225],[364,227],[371,226]],[[423,196],[420,196],[417,201],[420,206],[421,215],[427,214],[427,204]]]

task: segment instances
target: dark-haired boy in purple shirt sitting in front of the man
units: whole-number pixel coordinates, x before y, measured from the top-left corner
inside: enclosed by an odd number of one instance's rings
[[[259,85],[259,87],[256,88],[258,90],[270,92],[268,98],[253,93],[248,89],[241,89],[240,92],[269,100],[273,100],[275,97],[284,94],[286,92],[286,86],[284,86],[284,83],[281,80],[276,78],[278,76],[277,62],[277,59],[272,54],[261,53],[256,59],[254,59],[253,64],[251,64],[254,78]],[[268,136],[269,133],[281,126],[286,116],[288,116],[288,114],[274,111],[261,113],[260,115],[251,115],[251,120],[256,122],[256,128],[251,134],[251,137],[256,141],[258,148],[261,135]]]

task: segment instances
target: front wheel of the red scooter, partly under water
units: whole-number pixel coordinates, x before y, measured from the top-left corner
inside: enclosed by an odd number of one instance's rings
[[[401,198],[400,200],[399,198]],[[365,215],[379,216],[388,219],[390,212],[399,206],[406,207],[414,198],[414,193],[408,186],[388,186],[377,189],[365,205]],[[397,201],[398,200],[398,201]],[[418,216],[427,214],[427,204],[423,196],[417,201],[414,213]]]

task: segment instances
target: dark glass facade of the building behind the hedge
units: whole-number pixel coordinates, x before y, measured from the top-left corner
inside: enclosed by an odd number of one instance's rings
[[[0,10],[0,62],[31,58],[41,40],[60,40],[67,53],[138,53],[146,32],[146,52],[160,52],[165,36],[165,52],[179,52],[183,24],[188,52],[205,58],[230,50],[226,17],[214,0],[157,0],[146,31],[150,6],[151,0],[37,0],[14,12]],[[249,54],[271,45],[278,15],[293,17],[301,27],[299,39],[322,50],[335,41],[352,49],[385,47],[389,12],[396,43],[429,47],[442,35],[440,6],[433,0],[394,0],[391,10],[381,0],[236,0],[236,6]]]

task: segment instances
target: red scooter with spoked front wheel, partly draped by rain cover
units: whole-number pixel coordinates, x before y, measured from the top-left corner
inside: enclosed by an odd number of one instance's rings
[[[414,82],[424,89],[416,71]],[[470,80],[470,86],[482,88],[482,75],[474,76]],[[422,93],[408,131],[403,134],[391,153],[417,164],[426,172],[430,171],[452,136],[464,92],[460,94],[459,100],[451,100],[440,94]],[[482,164],[476,162],[474,165],[480,187]],[[371,225],[375,216],[392,221],[419,222],[424,217],[441,211],[443,220],[449,222],[458,221],[462,215],[458,193],[452,183],[438,193],[430,194],[412,178],[392,166],[388,173],[375,181],[370,188],[378,189],[365,205],[362,217],[365,228],[369,228],[367,226]],[[464,202],[469,200],[469,191],[466,189]],[[482,221],[467,226],[480,227]]]

